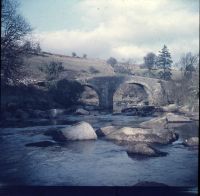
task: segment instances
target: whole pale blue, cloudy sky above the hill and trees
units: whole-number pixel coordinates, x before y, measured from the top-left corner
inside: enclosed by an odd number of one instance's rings
[[[43,51],[133,59],[199,51],[199,0],[19,0]]]

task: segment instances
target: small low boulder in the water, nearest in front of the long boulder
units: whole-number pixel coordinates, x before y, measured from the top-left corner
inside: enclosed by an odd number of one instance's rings
[[[158,157],[166,156],[166,152],[161,152],[147,143],[137,143],[128,147],[127,154],[130,157],[143,156],[143,157]]]

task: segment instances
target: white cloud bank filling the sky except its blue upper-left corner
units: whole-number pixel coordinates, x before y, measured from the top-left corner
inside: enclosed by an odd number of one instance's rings
[[[81,13],[79,28],[37,33],[43,50],[140,62],[164,44],[175,60],[181,53],[198,52],[199,12],[185,0],[84,0],[76,12]]]

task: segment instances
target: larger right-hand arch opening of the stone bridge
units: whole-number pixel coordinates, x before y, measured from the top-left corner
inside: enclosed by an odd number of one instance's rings
[[[151,105],[151,92],[140,83],[123,83],[113,95],[113,110],[121,111],[138,105]]]

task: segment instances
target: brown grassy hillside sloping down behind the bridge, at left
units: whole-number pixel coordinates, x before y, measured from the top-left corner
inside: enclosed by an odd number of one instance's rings
[[[62,62],[64,72],[61,74],[61,77],[66,79],[115,74],[112,66],[107,64],[105,60],[70,57],[43,52],[39,55],[31,54],[30,57],[24,58],[24,69],[28,74],[27,78],[44,80],[45,75],[39,70],[39,67],[51,61]]]

